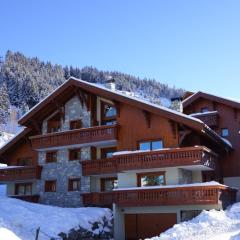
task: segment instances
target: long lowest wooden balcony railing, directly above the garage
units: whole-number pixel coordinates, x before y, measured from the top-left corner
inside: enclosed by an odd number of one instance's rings
[[[146,188],[83,194],[84,206],[109,206],[116,203],[121,207],[196,204],[223,204],[223,207],[226,207],[235,200],[236,190],[221,185]]]

